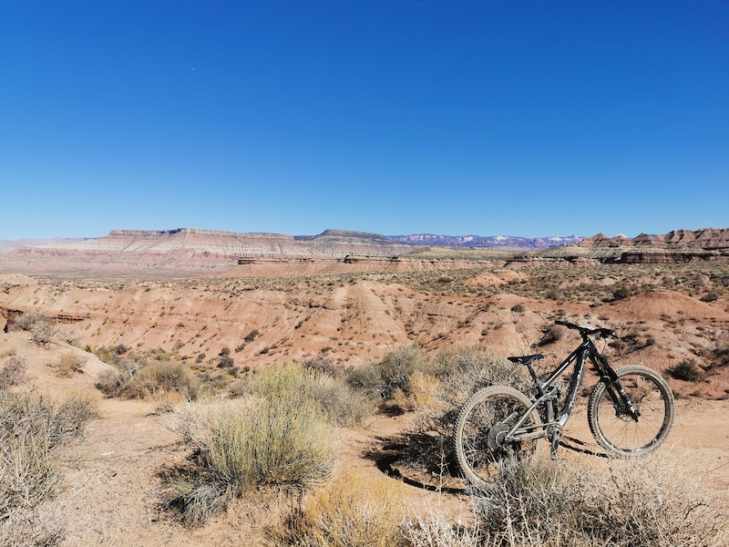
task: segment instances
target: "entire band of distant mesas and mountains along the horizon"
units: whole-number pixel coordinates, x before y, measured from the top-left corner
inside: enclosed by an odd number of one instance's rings
[[[584,239],[575,235],[524,238],[428,233],[385,237],[377,233],[345,230],[293,236],[179,228],[113,230],[107,236],[93,239],[2,243],[0,272],[119,277],[127,274],[223,274],[235,265],[261,261],[353,263],[368,257],[386,262],[395,256],[422,257],[426,247],[434,250],[445,247],[462,255],[479,254],[481,258],[483,253],[496,253],[500,255],[498,260],[521,262],[729,262],[729,229],[725,228],[677,230],[656,236],[642,234],[632,239],[621,235],[609,238],[601,233]],[[480,253],[470,253],[469,250],[480,250]],[[510,258],[503,256],[509,254],[512,255]]]

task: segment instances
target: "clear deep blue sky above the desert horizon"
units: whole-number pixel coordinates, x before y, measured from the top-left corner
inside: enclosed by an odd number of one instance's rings
[[[0,239],[710,226],[726,0],[0,0]]]

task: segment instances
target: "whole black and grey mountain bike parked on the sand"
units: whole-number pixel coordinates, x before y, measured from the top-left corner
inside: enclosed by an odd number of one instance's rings
[[[673,426],[674,403],[671,387],[645,366],[613,369],[598,350],[602,339],[617,338],[609,328],[590,328],[557,321],[557,325],[579,331],[582,343],[560,366],[541,381],[532,365],[541,354],[508,357],[527,366],[536,387],[529,398],[507,386],[485,387],[468,398],[458,414],[454,443],[458,465],[467,480],[483,486],[496,473],[498,462],[525,458],[541,449],[542,439],[551,443],[551,457],[570,419],[585,365],[590,362],[600,377],[590,394],[587,418],[590,431],[609,454],[633,456],[652,452]],[[594,340],[593,340],[594,338]],[[560,376],[574,364],[566,397],[560,408]]]

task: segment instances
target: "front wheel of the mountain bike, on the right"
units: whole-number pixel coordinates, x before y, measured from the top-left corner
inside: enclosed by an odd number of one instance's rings
[[[675,412],[671,387],[645,366],[615,369],[622,388],[640,413],[633,419],[617,393],[617,404],[601,382],[592,390],[588,404],[590,431],[603,449],[618,456],[652,452],[668,437]]]

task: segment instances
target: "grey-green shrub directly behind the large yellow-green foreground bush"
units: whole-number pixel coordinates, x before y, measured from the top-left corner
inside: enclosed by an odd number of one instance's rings
[[[283,363],[245,377],[231,387],[232,397],[310,400],[336,426],[355,427],[373,415],[375,405],[366,394],[349,387],[341,377],[319,369]]]

